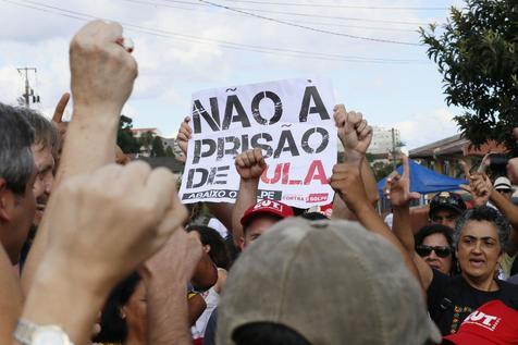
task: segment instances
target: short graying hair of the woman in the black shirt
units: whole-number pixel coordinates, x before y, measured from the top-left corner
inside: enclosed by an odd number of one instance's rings
[[[457,224],[455,224],[453,237],[456,248],[458,246],[460,233],[462,232],[464,226],[466,226],[466,223],[469,221],[488,221],[495,224],[501,248],[503,249],[507,246],[507,241],[509,239],[510,234],[509,222],[494,208],[488,206],[479,206],[465,211],[458,219]]]

